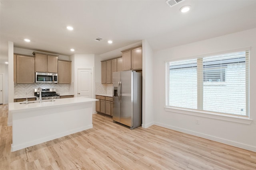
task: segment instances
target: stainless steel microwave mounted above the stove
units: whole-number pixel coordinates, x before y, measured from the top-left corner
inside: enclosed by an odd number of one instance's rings
[[[36,72],[36,83],[57,83],[57,73]]]

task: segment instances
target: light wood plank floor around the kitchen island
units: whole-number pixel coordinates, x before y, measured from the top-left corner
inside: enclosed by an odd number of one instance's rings
[[[92,129],[11,152],[7,116],[0,105],[0,170],[256,169],[256,152],[156,125],[130,130],[98,114]]]

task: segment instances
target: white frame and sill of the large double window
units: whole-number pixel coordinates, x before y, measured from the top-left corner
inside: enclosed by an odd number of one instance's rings
[[[238,122],[238,123],[245,123],[245,124],[250,124],[252,119],[250,119],[250,110],[249,110],[249,59],[250,59],[250,48],[244,48],[244,49],[236,49],[236,50],[232,50],[232,51],[222,51],[219,53],[210,53],[210,54],[206,54],[206,55],[199,55],[199,56],[193,56],[193,57],[186,57],[186,58],[180,58],[180,59],[175,59],[175,60],[168,60],[168,61],[164,61],[165,65],[166,65],[166,69],[170,68],[170,62],[174,62],[174,61],[182,61],[182,60],[187,60],[187,59],[197,59],[197,63],[201,63],[199,65],[197,65],[197,67],[201,66],[201,68],[203,68],[203,57],[210,57],[210,56],[214,56],[214,55],[225,55],[227,53],[235,53],[235,52],[242,52],[242,51],[246,51],[245,54],[245,63],[246,63],[246,111],[247,111],[247,115],[236,115],[236,114],[231,114],[231,113],[219,113],[217,111],[205,111],[205,110],[200,110],[200,105],[202,105],[202,103],[198,103],[199,105],[199,109],[189,109],[189,108],[184,108],[184,107],[174,107],[174,106],[169,106],[168,102],[169,102],[169,83],[168,80],[170,77],[169,72],[166,70],[166,105],[164,107],[164,109],[166,111],[171,111],[171,112],[175,112],[175,113],[184,113],[184,114],[189,114],[189,115],[197,115],[197,116],[201,116],[201,117],[210,117],[210,118],[214,118],[214,119],[221,119],[221,120],[227,120],[230,121],[234,121],[234,122]],[[201,61],[200,61],[201,60]],[[203,74],[204,71],[202,71]],[[201,76],[201,78],[203,79],[204,77]],[[205,83],[204,80],[201,80],[201,82]],[[214,83],[219,83],[222,85],[225,85],[225,82],[209,82],[210,84],[214,84]],[[200,87],[199,87],[200,88]],[[200,90],[202,90],[203,88],[200,88]],[[201,92],[199,92],[200,94],[202,94]]]

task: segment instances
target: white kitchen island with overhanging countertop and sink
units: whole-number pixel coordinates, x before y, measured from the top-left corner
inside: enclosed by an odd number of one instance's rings
[[[92,128],[94,101],[97,100],[78,97],[54,99],[54,102],[9,103],[11,151]]]

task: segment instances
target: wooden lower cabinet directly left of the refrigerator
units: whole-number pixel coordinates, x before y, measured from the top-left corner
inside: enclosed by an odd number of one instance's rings
[[[96,111],[105,113],[106,115],[113,115],[113,98],[108,96],[96,95]]]

